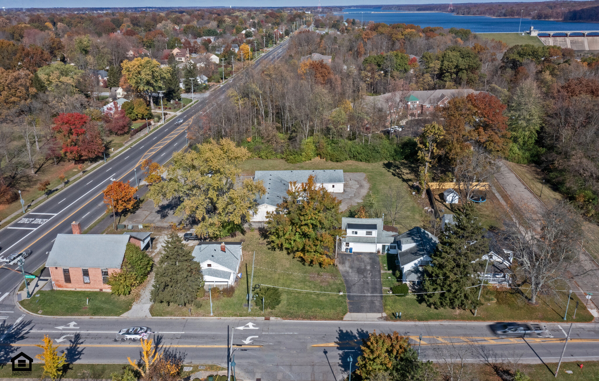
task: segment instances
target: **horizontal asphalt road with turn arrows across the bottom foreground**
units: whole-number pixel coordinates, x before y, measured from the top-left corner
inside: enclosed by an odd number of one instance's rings
[[[50,335],[69,362],[126,363],[138,358],[138,341],[117,341],[116,332],[132,325],[149,327],[161,349],[176,353],[187,364],[226,367],[232,342],[238,378],[253,380],[340,380],[349,370],[347,358],[359,355],[361,339],[369,332],[398,331],[410,337],[420,356],[443,360],[450,355],[480,361],[482,349],[497,359],[545,362],[555,371],[567,324],[549,324],[553,338],[499,339],[488,323],[465,322],[343,322],[214,318],[89,318],[39,317],[11,305],[0,305],[0,362],[21,351],[40,353],[35,344]],[[599,325],[573,326],[565,361],[599,360]],[[353,363],[355,367],[355,362]],[[548,370],[549,371],[549,370]]]

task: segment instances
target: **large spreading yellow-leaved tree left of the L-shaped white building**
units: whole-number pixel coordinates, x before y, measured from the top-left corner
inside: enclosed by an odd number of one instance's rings
[[[148,197],[155,205],[180,197],[183,202],[175,214],[189,219],[202,237],[217,239],[243,231],[243,224],[258,210],[256,196],[266,191],[262,182],[252,179],[235,186],[238,164],[249,156],[246,148],[228,138],[174,153],[166,180],[150,186]]]

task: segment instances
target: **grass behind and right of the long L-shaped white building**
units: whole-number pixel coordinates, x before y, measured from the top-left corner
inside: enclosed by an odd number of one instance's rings
[[[362,172],[366,174],[368,183],[370,183],[370,190],[377,201],[377,208],[381,213],[385,213],[382,210],[381,201],[383,199],[383,193],[385,189],[391,186],[398,186],[403,192],[403,208],[398,219],[395,221],[395,226],[399,229],[400,233],[412,229],[414,226],[421,226],[424,216],[423,208],[419,206],[418,202],[422,200],[415,196],[412,196],[412,191],[409,189],[409,185],[415,181],[412,178],[410,165],[407,162],[379,162],[379,163],[364,163],[358,161],[344,161],[341,163],[335,163],[332,161],[314,160],[309,162],[303,162],[299,164],[289,164],[283,159],[250,159],[242,162],[240,168],[243,174],[253,175],[256,170],[272,171],[272,170],[343,170],[345,173]],[[428,206],[428,201],[426,201]],[[357,208],[358,206],[351,207],[350,210]],[[348,211],[344,212],[344,216],[347,216]],[[391,225],[391,221],[385,220],[385,223]]]

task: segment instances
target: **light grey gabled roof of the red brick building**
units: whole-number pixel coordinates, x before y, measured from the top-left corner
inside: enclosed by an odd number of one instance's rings
[[[58,234],[47,267],[120,268],[128,234]]]

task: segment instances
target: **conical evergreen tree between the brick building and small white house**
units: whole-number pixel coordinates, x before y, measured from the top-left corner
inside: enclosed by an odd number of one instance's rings
[[[158,261],[153,303],[176,303],[185,306],[192,303],[199,289],[204,287],[204,275],[198,262],[184,246],[181,237],[172,232],[164,244]]]

